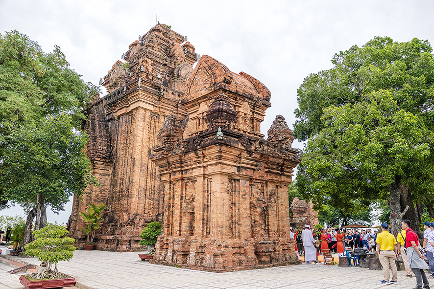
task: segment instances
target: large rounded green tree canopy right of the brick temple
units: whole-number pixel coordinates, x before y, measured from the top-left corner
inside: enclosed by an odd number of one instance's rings
[[[297,91],[294,135],[309,138],[299,192],[317,208],[327,203],[346,212],[387,199],[391,221],[405,213],[399,202],[409,189],[413,198],[433,201],[431,45],[375,37],[335,54],[332,63]]]

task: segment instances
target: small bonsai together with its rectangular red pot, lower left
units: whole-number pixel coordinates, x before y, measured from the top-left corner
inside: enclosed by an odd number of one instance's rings
[[[57,288],[75,285],[75,279],[60,273],[57,262],[72,259],[75,240],[66,237],[67,229],[58,224],[48,223],[42,229],[36,230],[35,241],[24,246],[26,255],[38,257],[41,265],[38,272],[21,275],[20,282],[25,288]],[[52,266],[54,265],[54,268]]]

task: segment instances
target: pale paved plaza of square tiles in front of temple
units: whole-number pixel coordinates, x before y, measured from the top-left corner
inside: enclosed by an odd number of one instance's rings
[[[384,288],[383,271],[360,267],[342,268],[325,265],[293,265],[227,273],[211,273],[176,267],[152,265],[141,261],[140,252],[106,252],[76,250],[71,262],[60,262],[59,271],[76,278],[82,289],[375,289]],[[39,265],[36,258],[16,260]],[[19,273],[0,263],[0,288],[22,289]],[[432,282],[434,285],[434,282]],[[391,289],[414,288],[416,279],[398,271],[398,284]],[[389,288],[390,289],[390,288]]]

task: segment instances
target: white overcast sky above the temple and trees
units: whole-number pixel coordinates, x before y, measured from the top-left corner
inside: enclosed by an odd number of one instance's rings
[[[331,68],[334,53],[374,36],[434,43],[433,8],[430,0],[0,0],[0,33],[18,30],[44,52],[59,45],[71,67],[97,85],[158,14],[157,21],[186,35],[196,53],[268,87],[266,135],[277,114],[292,129],[297,88],[310,73]],[[18,208],[0,211],[16,214],[24,215]],[[71,202],[60,215],[50,212],[48,222],[67,222],[70,214]]]

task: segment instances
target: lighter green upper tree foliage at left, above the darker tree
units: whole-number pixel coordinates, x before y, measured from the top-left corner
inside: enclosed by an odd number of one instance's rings
[[[0,34],[0,137],[23,124],[40,126],[45,116],[59,113],[70,114],[80,130],[81,111],[97,93],[70,68],[59,46],[44,53],[16,30]],[[0,145],[0,160],[3,151]],[[3,191],[0,187],[0,209],[8,201]]]

